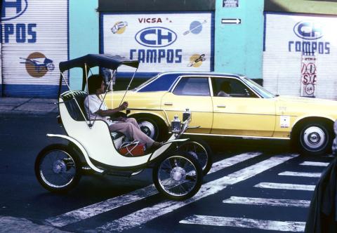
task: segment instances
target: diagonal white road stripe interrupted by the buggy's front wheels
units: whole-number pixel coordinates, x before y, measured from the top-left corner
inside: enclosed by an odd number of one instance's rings
[[[242,161],[245,161],[246,159],[257,157],[260,154],[261,153],[245,153],[245,154],[238,154],[234,157],[230,157],[227,159],[223,159],[221,161],[214,163],[209,173],[213,173],[228,166],[238,164]],[[48,218],[46,219],[46,222],[51,223],[51,225],[55,227],[64,227],[74,222],[79,222],[81,220],[85,220],[86,218],[91,218],[95,215],[99,215],[100,213],[112,211],[115,208],[119,208],[121,206],[131,204],[135,201],[145,199],[157,193],[158,191],[156,187],[154,187],[154,185],[149,185],[147,187],[137,189],[133,192],[129,192],[128,194],[124,194],[119,197],[107,199],[105,201],[101,201],[99,203],[86,206],[84,208],[79,208],[75,211],[70,211],[68,213],[58,215],[53,218]]]

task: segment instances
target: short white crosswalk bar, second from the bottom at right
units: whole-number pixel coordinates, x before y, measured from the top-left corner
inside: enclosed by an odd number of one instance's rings
[[[264,199],[255,197],[230,197],[223,200],[225,204],[245,204],[256,206],[285,206],[285,207],[303,207],[310,206],[310,201],[295,199]]]

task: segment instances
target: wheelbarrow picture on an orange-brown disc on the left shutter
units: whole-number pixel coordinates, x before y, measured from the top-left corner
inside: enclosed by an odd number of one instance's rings
[[[34,78],[41,78],[41,76],[44,76],[48,71],[55,69],[53,61],[39,52],[31,53],[27,58],[21,59],[24,60],[24,62],[21,63],[25,63],[27,73]]]

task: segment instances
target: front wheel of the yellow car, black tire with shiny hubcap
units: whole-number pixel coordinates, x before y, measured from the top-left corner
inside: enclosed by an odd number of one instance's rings
[[[321,123],[307,123],[296,132],[294,140],[303,155],[322,155],[331,150],[333,140],[332,125]]]

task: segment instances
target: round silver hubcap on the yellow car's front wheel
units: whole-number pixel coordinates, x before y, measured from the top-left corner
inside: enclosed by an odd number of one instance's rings
[[[312,126],[307,128],[303,133],[303,140],[305,145],[312,149],[322,147],[326,142],[326,135],[322,128]]]

